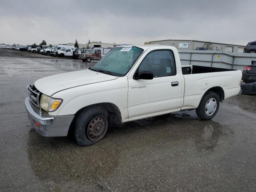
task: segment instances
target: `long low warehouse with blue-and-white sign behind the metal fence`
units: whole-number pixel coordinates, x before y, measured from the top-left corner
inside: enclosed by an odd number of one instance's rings
[[[170,45],[176,47],[178,50],[196,50],[200,47],[203,47],[205,41],[197,41],[197,40],[159,40],[159,41],[150,41],[151,44],[160,44],[160,45]],[[244,47],[243,45],[233,45],[233,44],[224,44],[224,43],[214,43],[213,50],[230,51],[232,53],[243,53]]]

